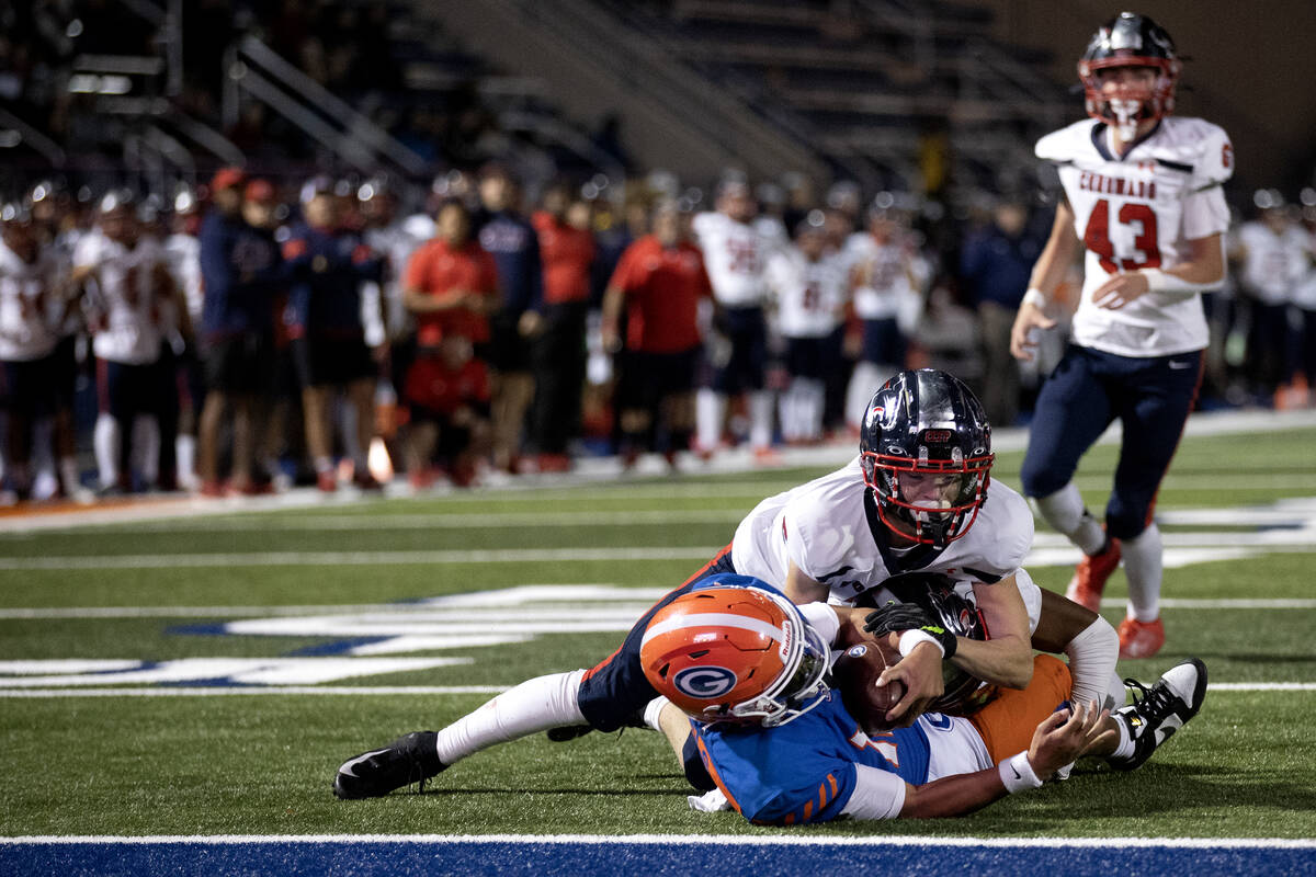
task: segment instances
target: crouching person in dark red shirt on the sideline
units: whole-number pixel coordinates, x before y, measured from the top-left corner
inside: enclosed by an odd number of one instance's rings
[[[411,409],[408,477],[417,489],[433,484],[430,464],[437,456],[454,485],[468,486],[488,446],[488,368],[461,335],[420,350],[403,385],[403,400]]]

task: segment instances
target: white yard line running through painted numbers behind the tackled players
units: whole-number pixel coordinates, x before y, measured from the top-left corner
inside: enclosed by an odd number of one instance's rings
[[[528,585],[536,586],[536,585]],[[620,588],[628,597],[637,601],[654,601],[667,593],[667,588]],[[462,594],[454,594],[459,597]],[[428,609],[433,604],[359,604],[359,605],[296,605],[296,606],[32,606],[0,609],[0,621],[55,621],[55,619],[107,619],[107,618],[247,618],[253,615],[325,615],[330,613],[380,613],[407,611],[411,607]],[[1104,607],[1125,605],[1123,597],[1105,597]],[[647,607],[647,606],[646,606]],[[1277,598],[1233,598],[1220,600],[1166,597],[1161,600],[1162,609],[1316,609],[1316,598],[1277,597]]]

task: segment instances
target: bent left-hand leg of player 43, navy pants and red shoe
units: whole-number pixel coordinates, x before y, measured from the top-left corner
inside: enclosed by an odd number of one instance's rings
[[[1024,496],[1037,513],[1083,551],[1066,596],[1094,611],[1119,565],[1119,544],[1083,506],[1073,477],[1079,459],[1115,417],[1100,373],[1103,356],[1070,346],[1042,384],[1020,472]]]

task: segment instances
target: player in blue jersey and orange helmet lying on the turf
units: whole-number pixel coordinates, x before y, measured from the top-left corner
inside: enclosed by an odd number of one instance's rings
[[[829,689],[820,643],[841,615],[828,609],[713,576],[649,623],[644,669],[663,697],[647,711],[678,759],[697,759],[716,784],[691,807],[778,826],[959,815],[1037,788],[1080,755],[1132,770],[1205,696],[1205,667],[1191,659],[1150,689],[1128,680],[1142,698],[1112,715],[1095,701],[1071,705],[1067,668],[1038,655],[1026,689],[971,718],[926,713],[870,736]]]

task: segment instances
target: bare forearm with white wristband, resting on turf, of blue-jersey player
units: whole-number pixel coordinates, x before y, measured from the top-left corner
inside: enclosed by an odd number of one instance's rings
[[[1095,703],[1051,713],[1037,726],[1026,752],[994,768],[917,786],[886,770],[858,765],[855,790],[844,813],[855,819],[930,819],[973,813],[1007,794],[1036,789],[1083,752],[1107,746],[1113,734],[1108,718],[1109,713]],[[903,795],[892,788],[898,782]]]

